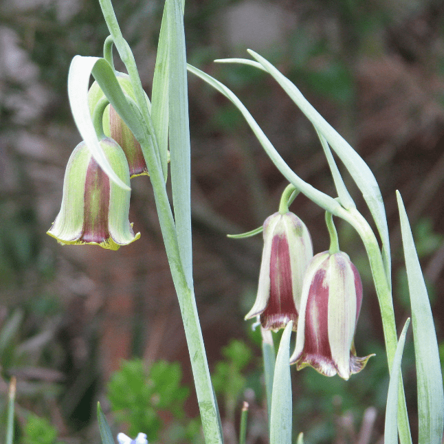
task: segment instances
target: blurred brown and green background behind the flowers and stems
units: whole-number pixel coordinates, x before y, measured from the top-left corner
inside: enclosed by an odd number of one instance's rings
[[[114,3],[150,96],[163,2]],[[399,329],[410,313],[400,190],[444,352],[444,3],[187,0],[185,25],[189,63],[238,95],[302,179],[334,193],[309,121],[271,77],[214,58],[246,57],[247,48],[267,57],[364,157],[386,202]],[[76,54],[101,56],[106,37],[96,0],[0,3],[0,421],[15,376],[16,443],[98,443],[97,401],[116,433],[198,443],[184,329],[149,178],[131,184],[139,241],[111,252],[62,247],[45,234],[80,142],[67,100],[69,63]],[[254,302],[262,239],[226,234],[262,225],[287,184],[232,104],[191,75],[189,87],[197,306],[225,441],[236,443],[246,400],[247,443],[267,443],[260,337],[243,321]],[[291,210],[307,224],[315,252],[328,249],[323,211],[303,196]],[[346,223],[337,227],[364,284],[357,354],[376,357],[350,381],[293,368],[294,428],[308,444],[378,443],[388,387],[381,318],[362,243]],[[416,441],[411,333],[403,375]]]

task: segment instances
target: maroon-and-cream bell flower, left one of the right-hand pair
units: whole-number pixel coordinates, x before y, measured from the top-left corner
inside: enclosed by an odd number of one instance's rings
[[[309,230],[291,212],[276,212],[263,226],[264,249],[258,293],[245,319],[260,315],[264,329],[283,329],[290,320],[296,330],[302,280],[313,257]]]

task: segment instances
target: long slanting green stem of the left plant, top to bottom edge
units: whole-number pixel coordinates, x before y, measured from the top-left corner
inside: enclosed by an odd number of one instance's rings
[[[173,212],[171,211],[164,174],[159,159],[157,142],[153,131],[153,124],[148,113],[148,107],[137,73],[137,67],[131,49],[122,37],[120,28],[115,18],[111,0],[100,0],[100,6],[107,21],[109,31],[113,37],[115,46],[118,49],[126,69],[128,69],[131,83],[135,92],[137,105],[142,111],[144,120],[150,131],[152,140],[140,141],[142,153],[144,154],[146,165],[150,171],[151,184],[155,197],[157,214],[159,215],[159,223],[164,238],[166,255],[170,265],[171,275],[175,285],[179,307],[181,310],[182,320],[188,351],[190,353],[192,373],[195,379],[195,387],[197,393],[197,401],[201,412],[201,421],[203,434],[207,444],[221,444],[222,436],[219,428],[219,415],[217,413],[216,399],[210,379],[210,371],[208,370],[208,362],[206,350],[203,344],[201,326],[199,324],[199,316],[197,314],[196,300],[193,289],[188,285],[184,267],[179,254],[179,243],[177,239],[177,231]],[[151,143],[152,142],[152,143]]]

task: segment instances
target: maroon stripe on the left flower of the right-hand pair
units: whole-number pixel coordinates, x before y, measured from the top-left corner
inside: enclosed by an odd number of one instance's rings
[[[293,300],[290,252],[287,238],[276,234],[271,242],[270,296],[260,322],[265,329],[280,329],[293,320],[296,330],[298,311]]]

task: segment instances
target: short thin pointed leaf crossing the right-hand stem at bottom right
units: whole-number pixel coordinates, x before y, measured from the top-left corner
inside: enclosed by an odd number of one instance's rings
[[[398,393],[399,381],[401,379],[401,359],[406,342],[406,333],[410,324],[410,318],[406,320],[393,359],[392,371],[390,372],[390,384],[388,384],[386,426],[384,429],[384,444],[398,444]]]

